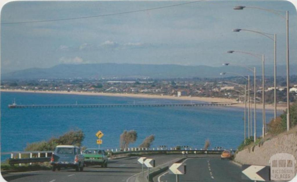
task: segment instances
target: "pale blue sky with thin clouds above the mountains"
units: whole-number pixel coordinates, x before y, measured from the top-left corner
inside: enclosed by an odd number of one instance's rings
[[[288,1],[212,1],[94,18],[185,1],[12,1],[1,9],[1,70],[58,64],[135,63],[221,66],[256,65],[260,59],[233,53],[265,54],[273,64],[274,42],[249,31],[277,34],[277,64],[286,62],[285,19],[245,5],[289,11],[290,64],[297,64],[296,8]],[[190,1],[186,1],[190,2]],[[285,15],[285,12],[280,12]]]

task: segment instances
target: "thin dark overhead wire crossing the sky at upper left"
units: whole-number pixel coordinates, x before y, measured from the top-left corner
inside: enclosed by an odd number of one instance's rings
[[[37,20],[37,21],[23,21],[23,22],[7,22],[7,23],[1,23],[1,24],[2,24],[2,25],[5,25],[5,24],[20,24],[20,23],[38,23],[38,22],[50,22],[50,21],[64,21],[64,20],[84,19],[84,18],[95,18],[95,17],[103,17],[103,16],[111,16],[111,15],[128,14],[128,13],[141,12],[141,11],[157,10],[157,9],[168,8],[168,7],[174,7],[174,6],[180,6],[180,5],[184,5],[184,4],[191,4],[191,3],[201,2],[201,1],[206,1],[206,0],[191,1],[191,2],[186,2],[186,3],[173,4],[173,5],[169,5],[169,6],[162,6],[162,7],[148,8],[148,9],[143,9],[143,10],[127,11],[127,12],[119,12],[119,13],[110,13],[110,14],[103,14],[103,15],[93,15],[93,16],[84,16],[84,17],[75,17],[75,18],[63,18],[63,19],[53,19],[53,20]]]

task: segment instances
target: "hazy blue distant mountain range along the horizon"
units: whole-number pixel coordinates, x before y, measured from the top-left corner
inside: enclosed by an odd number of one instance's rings
[[[262,75],[262,67],[256,66],[257,76]],[[290,65],[290,75],[296,75],[297,65]],[[182,66],[175,64],[60,64],[51,68],[30,68],[19,71],[1,71],[1,79],[53,79],[53,78],[193,78],[221,77],[220,72],[236,72],[252,75],[237,66]],[[265,75],[273,76],[273,65],[265,66]],[[286,75],[286,66],[277,66],[277,76]],[[234,76],[231,74],[224,75]]]

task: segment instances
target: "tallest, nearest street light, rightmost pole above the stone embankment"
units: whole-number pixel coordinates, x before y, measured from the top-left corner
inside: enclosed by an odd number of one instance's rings
[[[244,8],[253,8],[258,10],[263,10],[267,12],[274,13],[275,15],[278,15],[286,20],[286,33],[287,33],[287,131],[290,129],[290,65],[289,65],[289,11],[279,11],[279,10],[271,10],[271,9],[265,9],[260,7],[247,7],[247,6],[236,6],[233,9],[234,10],[243,10]],[[280,13],[286,12],[286,16],[280,14]]]

